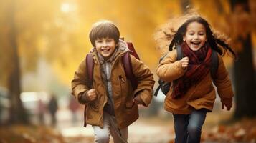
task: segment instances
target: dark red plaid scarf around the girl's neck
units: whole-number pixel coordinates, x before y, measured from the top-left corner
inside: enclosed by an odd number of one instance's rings
[[[181,78],[174,81],[174,91],[171,96],[174,99],[183,97],[191,86],[200,82],[209,72],[212,49],[204,44],[198,51],[189,48],[186,42],[181,44],[184,56],[189,57],[187,71]]]

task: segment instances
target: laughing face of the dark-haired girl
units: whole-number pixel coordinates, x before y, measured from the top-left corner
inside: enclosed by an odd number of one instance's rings
[[[204,25],[196,21],[188,24],[183,40],[186,41],[186,44],[188,44],[191,50],[199,50],[207,41],[207,34]]]

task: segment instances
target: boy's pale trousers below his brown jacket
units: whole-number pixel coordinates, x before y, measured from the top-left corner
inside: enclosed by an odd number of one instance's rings
[[[128,143],[128,127],[118,129],[115,117],[104,112],[103,128],[93,126],[96,143],[108,143],[110,134],[113,137],[114,143]]]

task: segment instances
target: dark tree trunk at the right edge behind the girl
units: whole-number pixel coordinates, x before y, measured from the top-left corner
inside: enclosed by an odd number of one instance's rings
[[[248,1],[230,1],[232,12],[237,25],[233,30],[240,26],[246,27],[246,14],[249,15]],[[243,17],[240,17],[243,16]],[[250,19],[248,20],[250,22]],[[239,25],[244,24],[244,25]],[[250,23],[248,23],[247,27]],[[255,117],[256,115],[256,92],[255,92],[255,74],[252,63],[252,39],[251,30],[237,30],[236,37],[233,38],[234,46],[241,46],[238,50],[238,60],[234,62],[234,91],[236,97],[236,108],[234,110],[234,119],[242,117]]]

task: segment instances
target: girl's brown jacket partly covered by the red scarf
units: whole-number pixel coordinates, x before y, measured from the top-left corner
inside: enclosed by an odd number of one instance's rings
[[[218,54],[219,56],[219,54]],[[170,51],[161,61],[156,70],[156,74],[164,81],[172,82],[182,77],[186,70],[181,68],[181,61],[176,61],[177,51]],[[217,86],[217,92],[222,102],[232,102],[234,93],[229,80],[229,75],[224,66],[222,57],[219,56],[219,67],[217,78],[212,81],[211,74],[207,74],[198,84],[193,85],[186,94],[179,98],[171,98],[173,87],[171,85],[169,92],[166,94],[164,108],[174,114],[190,114],[193,109],[209,109],[212,111],[216,93],[212,82]]]

